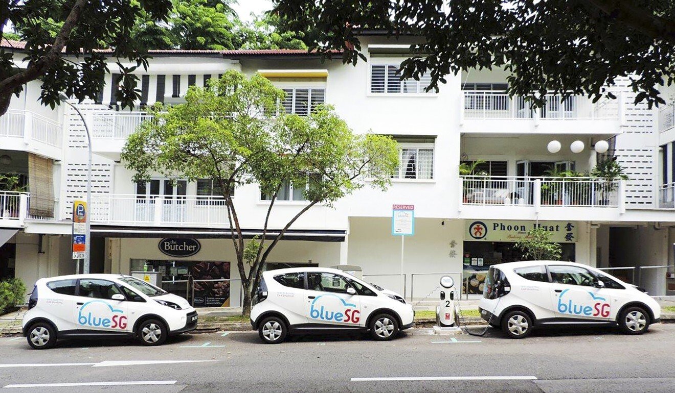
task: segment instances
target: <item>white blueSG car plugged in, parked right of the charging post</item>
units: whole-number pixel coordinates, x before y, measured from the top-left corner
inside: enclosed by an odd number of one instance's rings
[[[511,338],[561,325],[618,326],[642,334],[661,318],[661,307],[644,289],[590,266],[558,261],[491,266],[479,311]]]

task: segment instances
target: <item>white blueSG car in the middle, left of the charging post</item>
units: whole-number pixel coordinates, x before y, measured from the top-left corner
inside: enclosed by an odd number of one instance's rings
[[[370,331],[391,340],[414,324],[412,305],[400,295],[330,268],[263,272],[251,309],[251,326],[268,344],[287,334]]]

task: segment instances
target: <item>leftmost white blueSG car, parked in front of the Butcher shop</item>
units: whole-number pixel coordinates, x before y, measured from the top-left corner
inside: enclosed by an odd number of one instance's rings
[[[182,297],[131,276],[79,274],[35,283],[23,333],[34,349],[78,336],[136,336],[159,345],[196,326],[197,312]]]

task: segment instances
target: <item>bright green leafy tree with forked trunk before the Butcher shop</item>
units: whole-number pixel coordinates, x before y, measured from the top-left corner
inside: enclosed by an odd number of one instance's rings
[[[134,180],[165,177],[212,179],[227,206],[227,222],[244,292],[244,314],[271,251],[290,227],[317,204],[335,202],[368,184],[386,189],[398,165],[396,142],[383,135],[356,135],[332,107],[301,117],[280,113],[284,92],[261,75],[227,71],[207,88],[192,86],[186,103],[151,109],[121,154]],[[283,228],[270,235],[269,218],[285,184],[304,189],[307,201]],[[257,184],[269,206],[261,235],[245,239],[229,193]]]

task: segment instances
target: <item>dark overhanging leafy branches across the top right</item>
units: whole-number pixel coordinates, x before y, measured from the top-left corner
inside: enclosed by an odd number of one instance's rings
[[[664,103],[657,86],[675,82],[675,2],[653,0],[275,0],[286,30],[310,49],[364,59],[359,36],[417,36],[402,78],[503,67],[508,92],[542,106],[544,95],[615,98],[607,86],[629,77],[635,101]]]

